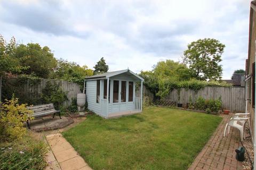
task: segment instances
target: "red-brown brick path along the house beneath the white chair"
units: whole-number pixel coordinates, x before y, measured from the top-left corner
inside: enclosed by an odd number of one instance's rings
[[[235,149],[238,148],[239,132],[230,128],[230,133],[223,138],[223,131],[231,115],[221,115],[222,122],[206,143],[203,150],[197,155],[194,163],[188,168],[192,169],[243,169],[243,163],[236,160]]]

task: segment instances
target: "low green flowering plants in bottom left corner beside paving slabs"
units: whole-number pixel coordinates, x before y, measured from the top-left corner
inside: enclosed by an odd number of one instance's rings
[[[12,143],[0,143],[0,167],[2,170],[45,169],[47,152],[44,141],[26,137]]]

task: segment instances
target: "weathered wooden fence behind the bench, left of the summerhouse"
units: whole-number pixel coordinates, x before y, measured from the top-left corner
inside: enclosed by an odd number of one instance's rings
[[[16,78],[7,79],[10,86],[12,82],[16,80]],[[19,88],[19,90],[23,90],[22,94],[26,94],[26,97],[30,99],[36,100],[41,98],[42,90],[45,88],[46,82],[48,81],[51,83],[56,82],[59,84],[60,88],[67,93],[68,100],[63,103],[64,106],[69,106],[71,104],[72,98],[76,98],[77,94],[81,92],[81,87],[78,84],[65,80],[41,79],[41,81],[37,83],[31,83],[30,81],[31,80],[27,80],[27,82],[21,85],[21,88]],[[13,92],[15,94],[15,91]],[[22,95],[20,96],[22,97]]]

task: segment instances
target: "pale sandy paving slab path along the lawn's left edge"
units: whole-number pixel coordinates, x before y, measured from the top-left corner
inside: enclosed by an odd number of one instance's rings
[[[46,140],[62,170],[92,170],[60,133],[47,135]]]

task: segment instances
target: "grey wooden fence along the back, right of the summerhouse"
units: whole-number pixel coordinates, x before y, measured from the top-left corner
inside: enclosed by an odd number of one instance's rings
[[[176,101],[185,106],[189,102],[189,98],[194,103],[198,97],[205,99],[218,99],[221,97],[223,109],[229,109],[234,112],[245,112],[244,87],[205,87],[198,91],[182,88],[180,94],[178,90],[174,89],[166,96],[165,100]]]

